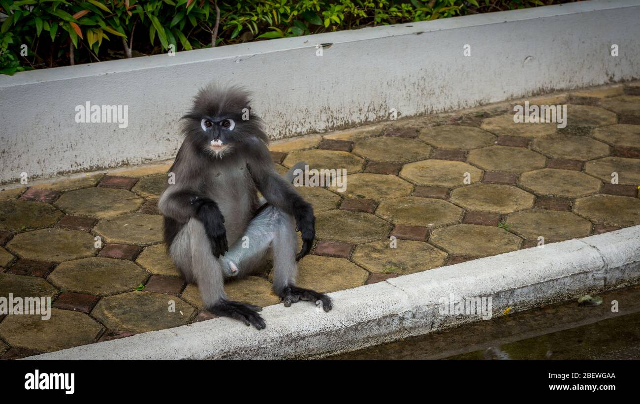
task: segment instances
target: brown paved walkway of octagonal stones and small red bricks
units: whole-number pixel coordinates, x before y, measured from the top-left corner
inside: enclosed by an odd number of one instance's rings
[[[283,173],[305,160],[349,174],[344,193],[299,189],[317,217],[299,285],[343,290],[640,224],[640,82],[527,101],[568,104],[567,127],[514,123],[522,100],[273,144]],[[156,202],[169,167],[0,192],[0,297],[51,297],[54,307],[46,321],[0,315],[0,356],[212,318],[161,244]],[[270,270],[228,283],[230,299],[278,303]]]

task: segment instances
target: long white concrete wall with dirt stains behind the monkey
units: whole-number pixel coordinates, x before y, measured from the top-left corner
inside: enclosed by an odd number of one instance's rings
[[[586,1],[0,76],[0,183],[172,157],[213,80],[253,89],[278,139],[637,79],[638,21],[637,0]],[[87,101],[129,105],[129,127],[76,123]]]

